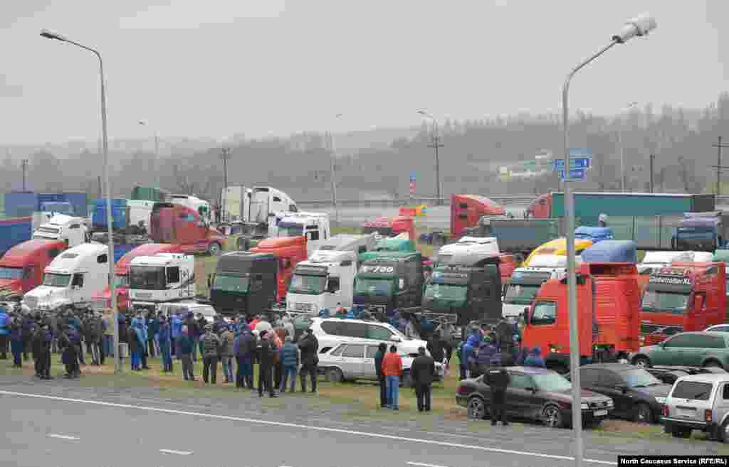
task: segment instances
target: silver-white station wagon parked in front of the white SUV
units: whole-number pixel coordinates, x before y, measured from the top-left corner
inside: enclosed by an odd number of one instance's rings
[[[327,376],[327,380],[338,383],[344,380],[377,380],[375,369],[376,345],[362,343],[341,343],[334,348],[319,354],[319,372]],[[413,386],[410,378],[410,367],[414,358],[399,352],[402,358],[402,378],[400,383],[408,388]],[[443,379],[443,364],[436,362],[436,380]]]

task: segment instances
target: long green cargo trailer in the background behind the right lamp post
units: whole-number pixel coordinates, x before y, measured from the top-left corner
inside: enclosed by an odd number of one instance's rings
[[[597,225],[601,214],[611,218],[681,216],[684,212],[714,211],[715,204],[713,194],[574,193],[574,215],[580,217],[581,225]],[[551,217],[564,217],[564,193],[552,193]]]

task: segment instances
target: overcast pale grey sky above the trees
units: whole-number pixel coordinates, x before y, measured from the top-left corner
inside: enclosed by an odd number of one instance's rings
[[[95,57],[41,28],[104,55],[109,137],[146,137],[147,119],[224,138],[409,126],[416,108],[558,112],[569,68],[642,12],[658,29],[582,71],[572,109],[703,107],[727,90],[726,0],[4,0],[2,143],[100,132]]]

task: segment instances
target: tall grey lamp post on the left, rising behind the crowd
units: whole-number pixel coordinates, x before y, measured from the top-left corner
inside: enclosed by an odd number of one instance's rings
[[[43,29],[41,36],[46,39],[55,39],[56,41],[73,44],[82,49],[92,52],[98,58],[98,71],[101,79],[101,138],[104,142],[104,183],[106,184],[106,225],[109,228],[109,292],[111,293],[112,313],[114,314],[114,371],[119,373],[122,371],[121,360],[119,355],[119,314],[117,312],[117,291],[114,284],[114,235],[112,232],[112,187],[109,184],[109,140],[106,133],[106,91],[104,88],[104,61],[101,60],[101,54],[90,47],[79,44],[78,42],[66,39],[61,34],[52,33]]]

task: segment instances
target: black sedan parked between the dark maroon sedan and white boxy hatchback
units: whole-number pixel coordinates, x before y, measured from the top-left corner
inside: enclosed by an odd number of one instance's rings
[[[612,415],[641,423],[658,423],[671,385],[646,370],[622,363],[580,367],[580,386],[608,396],[615,403]]]

